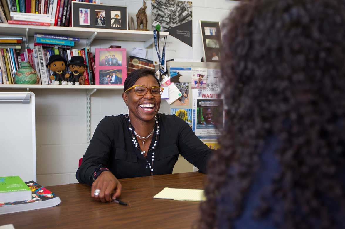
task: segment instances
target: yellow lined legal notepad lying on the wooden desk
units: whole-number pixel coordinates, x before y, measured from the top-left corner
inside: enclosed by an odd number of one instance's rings
[[[206,197],[202,189],[164,188],[153,198],[189,201],[204,201]]]

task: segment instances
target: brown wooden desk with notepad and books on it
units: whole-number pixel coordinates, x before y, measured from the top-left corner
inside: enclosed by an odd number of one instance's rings
[[[203,189],[205,177],[192,172],[120,179],[121,200],[128,206],[94,201],[85,184],[49,186],[60,197],[60,205],[0,215],[0,225],[12,223],[16,229],[192,228],[198,220],[199,202],[153,196],[165,187]]]

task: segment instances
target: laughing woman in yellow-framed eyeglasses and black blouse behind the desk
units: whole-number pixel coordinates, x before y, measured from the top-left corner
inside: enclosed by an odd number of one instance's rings
[[[125,80],[122,98],[128,113],[100,121],[76,173],[80,183],[92,185],[95,200],[119,197],[122,186],[117,179],[172,173],[179,154],[206,172],[213,150],[185,121],[158,113],[162,91],[155,72],[146,68]]]

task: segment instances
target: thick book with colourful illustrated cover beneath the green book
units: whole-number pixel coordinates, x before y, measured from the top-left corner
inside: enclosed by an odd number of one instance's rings
[[[53,207],[61,203],[60,198],[34,181],[25,182],[31,189],[31,199],[0,203],[0,215],[18,211]]]

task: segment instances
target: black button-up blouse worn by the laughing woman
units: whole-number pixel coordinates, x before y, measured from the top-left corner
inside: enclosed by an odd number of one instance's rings
[[[214,150],[201,142],[185,121],[175,115],[161,114],[158,126],[155,150],[148,151],[147,157],[144,157],[132,142],[129,121],[123,114],[102,119],[77,170],[78,181],[91,185],[92,174],[100,164],[107,167],[118,179],[149,176],[151,169],[147,161],[152,159],[153,152],[153,175],[172,173],[179,154],[198,167],[200,172],[206,173],[208,158]],[[134,127],[132,129],[135,130]],[[155,125],[149,149],[155,143],[156,130]]]

